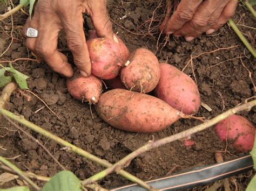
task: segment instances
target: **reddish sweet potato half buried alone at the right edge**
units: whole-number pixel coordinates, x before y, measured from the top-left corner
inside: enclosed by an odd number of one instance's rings
[[[255,127],[246,118],[232,115],[214,127],[215,132],[223,141],[233,141],[234,148],[239,152],[248,152],[253,148]]]

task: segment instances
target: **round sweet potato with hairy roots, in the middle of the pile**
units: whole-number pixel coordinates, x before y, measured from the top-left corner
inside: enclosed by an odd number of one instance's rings
[[[129,65],[121,70],[125,86],[140,93],[149,93],[159,81],[160,68],[157,57],[148,49],[138,48],[129,58]]]

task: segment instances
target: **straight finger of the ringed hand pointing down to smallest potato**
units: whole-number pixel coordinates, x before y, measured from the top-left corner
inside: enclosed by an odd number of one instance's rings
[[[91,60],[85,41],[82,12],[72,12],[71,15],[64,16],[63,19],[66,40],[73,54],[74,62],[80,73],[87,77],[91,75]]]

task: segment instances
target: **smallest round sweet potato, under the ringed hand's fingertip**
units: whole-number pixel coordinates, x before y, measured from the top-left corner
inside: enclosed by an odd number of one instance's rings
[[[97,103],[102,93],[101,80],[93,75],[83,77],[78,72],[66,81],[66,86],[76,100],[83,102]]]

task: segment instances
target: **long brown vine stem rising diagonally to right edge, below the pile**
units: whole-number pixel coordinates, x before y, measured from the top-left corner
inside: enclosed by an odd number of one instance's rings
[[[230,115],[236,114],[239,111],[250,110],[255,105],[256,105],[256,100],[241,104],[240,106],[230,109],[230,110],[224,112],[223,114],[218,115],[217,117],[214,117],[200,125],[195,126],[194,128],[177,133],[176,135],[172,135],[170,137],[166,137],[166,138],[159,139],[156,141],[150,141],[146,145],[138,148],[136,151],[133,151],[132,153],[126,155],[126,157],[119,160],[116,164],[112,165],[109,168],[106,168],[102,172],[99,172],[99,173],[91,176],[90,178],[84,180],[82,183],[83,183],[83,185],[87,185],[87,184],[90,184],[91,182],[96,182],[96,181],[104,178],[106,175],[108,175],[114,171],[116,171],[118,173],[119,169],[126,167],[127,164],[130,164],[130,161],[132,159],[134,159],[135,157],[137,157],[138,155],[140,155],[146,151],[152,150],[153,148],[159,147],[159,146],[167,144],[167,143],[174,142],[174,140],[179,140],[179,139],[189,137],[189,136],[193,135],[194,133],[197,133],[199,131],[203,131],[207,128],[210,128],[210,126],[222,121],[223,119],[225,119],[226,117],[228,117]]]

